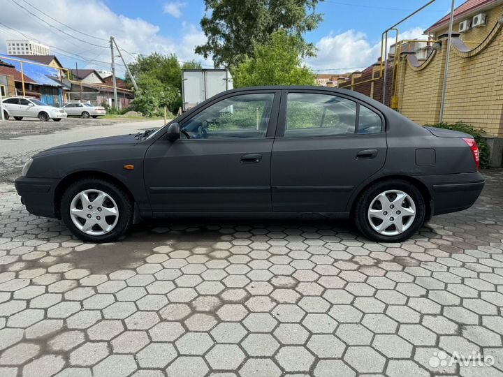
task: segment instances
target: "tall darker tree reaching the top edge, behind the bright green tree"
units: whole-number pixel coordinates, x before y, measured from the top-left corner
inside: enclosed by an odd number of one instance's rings
[[[300,42],[302,57],[314,54],[314,45],[302,34],[321,22],[315,12],[323,0],[205,0],[206,12],[201,27],[207,43],[196,47],[205,58],[212,55],[215,66],[231,67],[251,57],[255,45],[268,43],[271,34],[287,31]]]

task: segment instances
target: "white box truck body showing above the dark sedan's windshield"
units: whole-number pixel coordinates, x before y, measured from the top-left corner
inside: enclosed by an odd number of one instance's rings
[[[190,110],[207,98],[229,89],[233,89],[233,80],[226,69],[183,69],[182,110]]]

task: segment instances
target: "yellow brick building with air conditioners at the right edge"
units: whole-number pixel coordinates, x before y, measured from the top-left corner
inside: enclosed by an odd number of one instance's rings
[[[419,43],[417,49],[402,48],[401,54],[400,47],[398,52],[394,48],[390,54],[391,68],[386,75],[384,102],[418,124],[433,124],[440,120],[449,16],[426,29],[422,46]],[[442,121],[464,121],[483,128],[488,135],[491,164],[501,166],[503,0],[467,0],[462,3],[455,9],[452,37]],[[380,83],[382,87],[382,76],[379,70],[374,85]],[[367,84],[356,82],[348,89],[365,93]]]

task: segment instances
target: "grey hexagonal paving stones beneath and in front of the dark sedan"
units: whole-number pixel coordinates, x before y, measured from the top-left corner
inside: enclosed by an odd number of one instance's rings
[[[0,184],[0,376],[503,376],[503,170],[485,175],[403,244],[300,221],[82,244]]]

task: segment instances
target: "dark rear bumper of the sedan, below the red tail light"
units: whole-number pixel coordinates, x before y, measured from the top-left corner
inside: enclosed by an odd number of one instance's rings
[[[416,177],[430,191],[434,215],[472,207],[484,186],[480,172]]]

